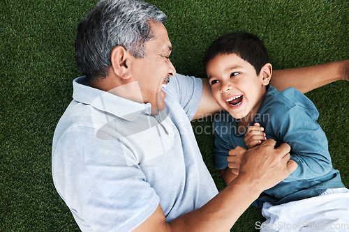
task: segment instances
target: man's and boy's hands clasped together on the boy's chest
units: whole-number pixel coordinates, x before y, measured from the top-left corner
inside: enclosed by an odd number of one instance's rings
[[[261,181],[265,190],[297,169],[297,163],[290,160],[290,146],[281,144],[274,148],[276,141],[265,137],[264,128],[259,123],[248,127],[244,141],[247,150],[237,146],[229,151],[228,167],[235,175]]]

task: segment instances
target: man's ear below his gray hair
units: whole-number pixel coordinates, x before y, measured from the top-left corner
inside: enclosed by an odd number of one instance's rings
[[[116,46],[112,49],[112,70],[122,79],[129,79],[131,77],[128,73],[129,69],[127,65],[129,63],[130,55],[131,54],[122,46]]]

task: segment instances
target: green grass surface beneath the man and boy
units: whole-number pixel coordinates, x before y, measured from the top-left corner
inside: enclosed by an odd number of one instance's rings
[[[244,30],[264,40],[275,69],[349,58],[349,2],[151,0],[163,10],[177,72],[205,77],[202,56],[218,36]],[[54,189],[54,128],[80,73],[73,43],[77,22],[96,1],[0,2],[0,231],[78,231]],[[320,111],[334,167],[349,186],[348,82],[307,94]],[[210,126],[193,123],[194,129]],[[209,134],[198,132],[202,155],[216,180]],[[260,209],[248,208],[232,231],[254,231]]]

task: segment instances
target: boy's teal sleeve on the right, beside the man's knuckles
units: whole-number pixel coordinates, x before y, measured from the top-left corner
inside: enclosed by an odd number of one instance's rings
[[[279,115],[281,115],[279,111]],[[325,175],[332,169],[327,138],[316,122],[318,111],[295,105],[284,112],[279,124],[279,141],[291,147],[291,159],[297,169],[284,181],[311,180]],[[278,128],[278,127],[276,127]]]

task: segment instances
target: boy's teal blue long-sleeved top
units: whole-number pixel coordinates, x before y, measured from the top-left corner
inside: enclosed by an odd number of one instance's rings
[[[339,171],[332,168],[327,138],[318,119],[313,102],[295,88],[277,91],[269,86],[253,122],[265,128],[267,139],[274,139],[276,146],[287,143],[291,159],[298,168],[278,185],[262,192],[253,202],[261,207],[265,201],[274,204],[297,201],[318,196],[328,188],[344,187]],[[237,121],[224,111],[214,120],[215,167],[228,167],[228,152],[236,146],[246,148],[245,130],[239,130]]]

